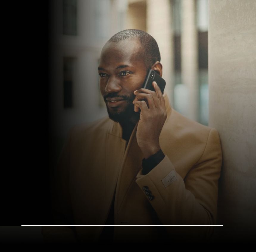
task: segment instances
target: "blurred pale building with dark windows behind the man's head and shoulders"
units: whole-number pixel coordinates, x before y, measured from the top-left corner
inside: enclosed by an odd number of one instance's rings
[[[50,13],[52,139],[107,116],[99,90],[102,47],[115,33],[140,29],[160,48],[165,92],[181,114],[208,124],[207,0],[56,0]],[[58,150],[59,151],[59,150]]]

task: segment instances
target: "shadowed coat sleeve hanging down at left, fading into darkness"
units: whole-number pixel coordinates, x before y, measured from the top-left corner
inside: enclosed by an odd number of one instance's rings
[[[73,223],[69,195],[69,154],[73,129],[74,127],[68,132],[51,181],[53,225],[71,225]],[[73,230],[71,226],[42,226],[41,233],[46,243],[77,243],[76,233]]]

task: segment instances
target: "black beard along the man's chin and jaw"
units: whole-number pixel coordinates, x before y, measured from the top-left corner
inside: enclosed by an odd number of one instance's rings
[[[131,119],[138,121],[140,119],[140,112],[134,111],[134,104],[132,103],[134,98],[135,95],[132,98],[127,97],[125,99],[127,101],[127,106],[125,107],[124,111],[121,112],[110,111],[109,107],[107,106],[107,113],[109,118],[119,123],[130,122]]]

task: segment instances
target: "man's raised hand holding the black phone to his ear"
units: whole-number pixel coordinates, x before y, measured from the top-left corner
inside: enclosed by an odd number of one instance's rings
[[[167,118],[163,94],[155,81],[155,91],[141,88],[134,91],[134,111],[139,112],[140,120],[137,127],[137,142],[145,159],[160,150],[159,136]]]

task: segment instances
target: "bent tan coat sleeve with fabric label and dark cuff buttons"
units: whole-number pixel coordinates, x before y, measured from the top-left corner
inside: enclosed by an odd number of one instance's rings
[[[215,225],[221,163],[218,132],[212,128],[202,156],[184,180],[166,155],[148,174],[143,175],[140,170],[136,183],[163,225]],[[204,237],[210,237],[213,227],[197,231]]]

